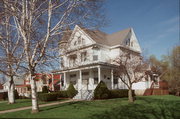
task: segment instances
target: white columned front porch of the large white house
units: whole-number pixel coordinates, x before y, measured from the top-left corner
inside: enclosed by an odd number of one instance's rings
[[[100,81],[106,83],[109,89],[120,88],[120,79],[114,76],[113,66],[88,66],[61,72],[61,90],[66,90],[72,83],[76,90],[94,90]]]

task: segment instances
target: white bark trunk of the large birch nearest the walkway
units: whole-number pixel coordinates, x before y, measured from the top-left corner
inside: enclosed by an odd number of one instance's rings
[[[39,112],[37,92],[36,92],[36,81],[31,76],[31,96],[32,96],[32,113]]]

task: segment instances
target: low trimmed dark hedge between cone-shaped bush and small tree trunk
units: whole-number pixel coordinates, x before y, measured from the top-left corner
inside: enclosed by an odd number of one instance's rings
[[[128,89],[116,89],[110,91],[110,98],[123,98],[128,97]],[[133,96],[135,96],[134,90],[133,90]]]

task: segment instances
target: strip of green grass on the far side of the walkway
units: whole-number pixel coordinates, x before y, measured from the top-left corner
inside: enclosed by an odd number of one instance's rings
[[[61,99],[58,101],[64,101],[64,99]],[[38,103],[39,104],[46,104],[46,103],[52,103],[52,102],[55,102],[55,101],[51,101],[51,102],[39,101]],[[3,101],[2,103],[0,103],[0,111],[20,108],[20,107],[27,107],[27,106],[31,106],[31,104],[32,104],[31,99],[17,99],[16,103],[14,103],[14,104],[8,104],[7,101]]]

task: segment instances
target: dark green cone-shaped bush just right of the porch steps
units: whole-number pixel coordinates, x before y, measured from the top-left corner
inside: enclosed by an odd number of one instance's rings
[[[94,99],[108,99],[110,97],[110,91],[106,84],[101,81],[94,90]]]

